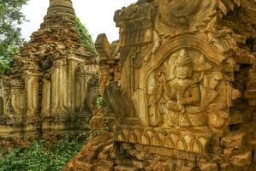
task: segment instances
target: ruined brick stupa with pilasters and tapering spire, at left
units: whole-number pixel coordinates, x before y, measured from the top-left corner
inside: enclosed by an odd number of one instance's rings
[[[1,75],[1,139],[75,134],[89,120],[87,82],[97,57],[82,43],[75,17],[71,0],[50,0],[41,27]]]

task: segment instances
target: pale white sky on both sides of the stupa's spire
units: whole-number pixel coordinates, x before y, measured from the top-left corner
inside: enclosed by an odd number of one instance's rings
[[[40,3],[39,3],[40,2]],[[28,41],[32,32],[39,29],[50,0],[29,0],[22,8],[29,22],[21,26],[22,36]],[[105,32],[110,43],[118,39],[118,28],[113,21],[115,11],[137,0],[73,0],[75,14],[91,33],[93,40]]]

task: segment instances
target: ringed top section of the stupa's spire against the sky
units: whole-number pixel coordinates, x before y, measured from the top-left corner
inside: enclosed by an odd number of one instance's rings
[[[74,21],[75,14],[71,0],[50,0],[45,22]]]

